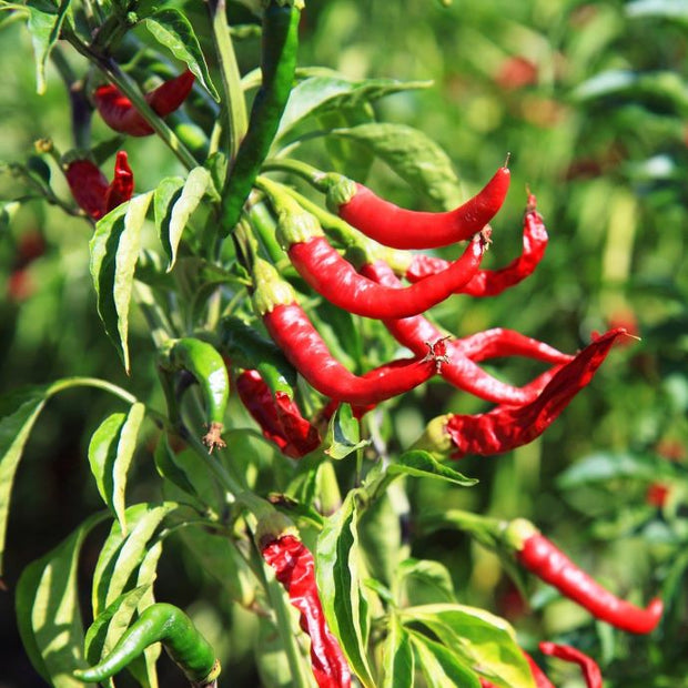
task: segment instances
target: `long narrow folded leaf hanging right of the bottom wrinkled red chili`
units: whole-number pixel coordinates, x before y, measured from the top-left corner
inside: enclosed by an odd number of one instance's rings
[[[340,639],[350,667],[365,688],[374,688],[366,656],[367,600],[358,571],[355,499],[356,493],[350,492],[317,538],[317,589],[327,625]]]

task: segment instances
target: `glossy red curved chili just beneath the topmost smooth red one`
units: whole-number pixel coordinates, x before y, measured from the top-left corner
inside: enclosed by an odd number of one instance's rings
[[[484,253],[485,244],[476,237],[446,270],[411,286],[389,289],[357,273],[324,236],[289,247],[292,264],[318,294],[350,313],[378,320],[417,315],[443,302],[472,280]]]

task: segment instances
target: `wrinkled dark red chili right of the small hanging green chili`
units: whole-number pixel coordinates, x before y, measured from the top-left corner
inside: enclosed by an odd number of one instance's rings
[[[301,458],[321,444],[317,428],[302,415],[284,392],[274,396],[257,371],[244,371],[236,377],[239,396],[261,426],[263,435],[274,442],[282,454]]]

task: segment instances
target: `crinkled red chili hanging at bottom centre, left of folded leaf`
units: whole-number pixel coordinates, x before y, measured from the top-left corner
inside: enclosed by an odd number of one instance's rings
[[[282,535],[262,549],[290,601],[301,613],[301,628],[311,638],[311,667],[320,688],[348,688],[351,672],[342,649],[327,627],[308,548],[294,535]]]

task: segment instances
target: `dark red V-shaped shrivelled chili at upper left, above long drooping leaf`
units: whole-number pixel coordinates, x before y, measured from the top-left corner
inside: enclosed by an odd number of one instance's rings
[[[134,191],[134,176],[124,151],[118,151],[111,184],[90,160],[74,160],[67,166],[64,175],[74,201],[93,220],[100,220],[129,201]]]

